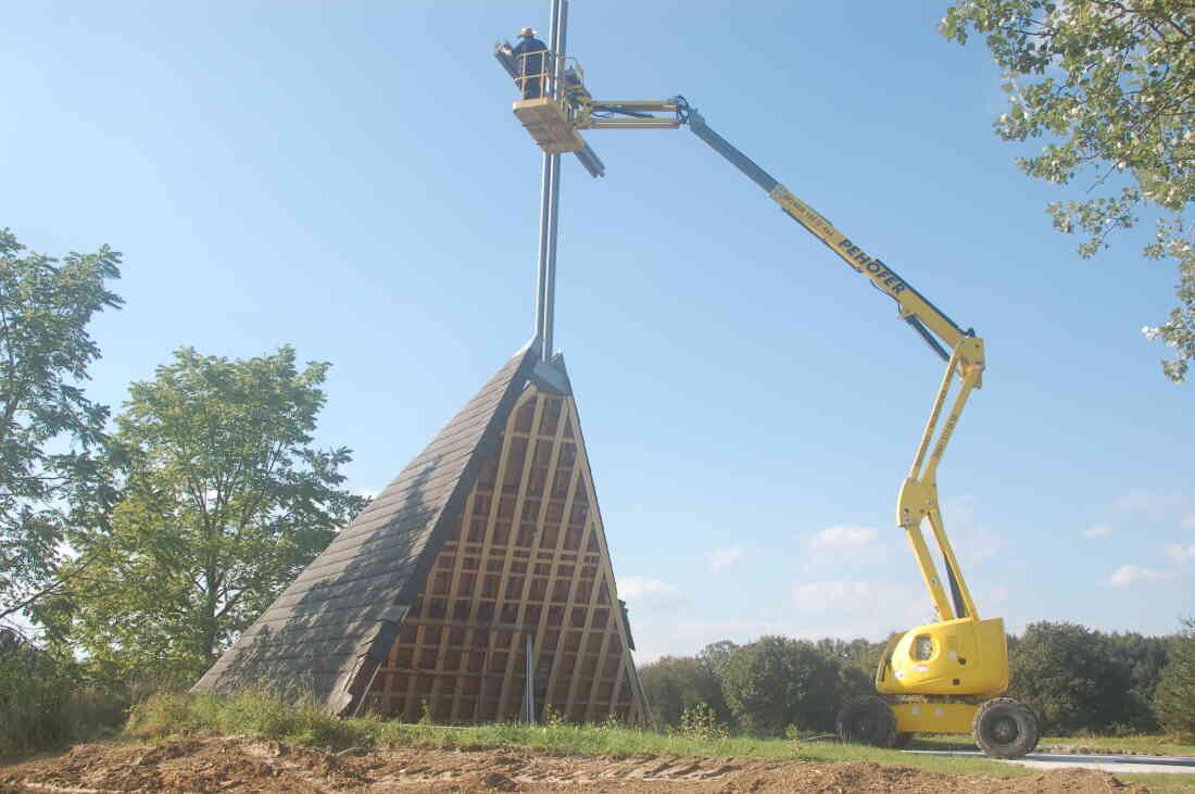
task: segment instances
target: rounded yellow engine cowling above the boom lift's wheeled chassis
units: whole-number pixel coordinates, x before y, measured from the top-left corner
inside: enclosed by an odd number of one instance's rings
[[[888,695],[995,697],[1009,688],[1004,620],[963,617],[906,632],[884,648],[876,689]]]

